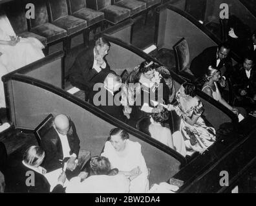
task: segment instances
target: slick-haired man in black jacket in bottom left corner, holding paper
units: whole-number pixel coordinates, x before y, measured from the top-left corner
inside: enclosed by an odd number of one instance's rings
[[[22,193],[48,193],[50,184],[45,178],[46,170],[41,167],[45,158],[45,151],[38,146],[30,146],[25,151],[23,161],[12,168],[8,178],[6,178],[6,192]],[[28,175],[29,174],[29,175]],[[64,192],[63,183],[66,180],[65,173],[58,178],[58,185],[52,192]]]

